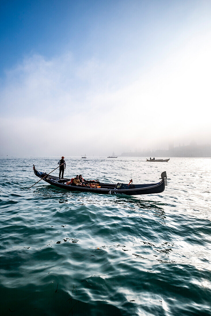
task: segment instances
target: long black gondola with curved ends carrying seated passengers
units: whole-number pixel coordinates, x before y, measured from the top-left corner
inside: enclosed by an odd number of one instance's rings
[[[99,194],[126,194],[126,195],[142,195],[142,194],[154,194],[161,193],[165,190],[165,185],[167,185],[167,176],[166,172],[161,173],[161,181],[158,183],[150,184],[132,184],[131,181],[129,184],[125,183],[102,183],[98,180],[96,181],[87,181],[86,186],[82,185],[70,185],[67,182],[70,182],[71,179],[59,179],[59,177],[54,177],[48,175],[45,172],[37,171],[35,165],[33,165],[34,173],[37,177],[43,178],[43,180],[51,185],[54,185],[58,188],[65,189],[67,191],[82,191],[82,192],[95,192]]]

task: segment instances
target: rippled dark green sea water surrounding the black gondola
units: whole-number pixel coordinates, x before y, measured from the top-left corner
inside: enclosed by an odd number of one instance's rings
[[[156,195],[28,190],[33,163],[48,173],[58,159],[1,158],[1,315],[211,315],[211,159],[65,159],[69,178],[153,183],[166,171]]]

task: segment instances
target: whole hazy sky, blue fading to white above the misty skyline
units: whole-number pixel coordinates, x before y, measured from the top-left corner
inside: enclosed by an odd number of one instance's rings
[[[211,1],[0,2],[0,155],[211,143]]]

